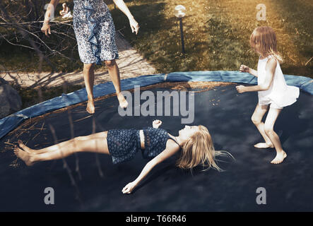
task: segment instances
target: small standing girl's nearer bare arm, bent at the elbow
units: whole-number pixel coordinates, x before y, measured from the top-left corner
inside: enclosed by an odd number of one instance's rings
[[[271,87],[271,83],[273,82],[276,66],[277,61],[272,57],[267,61],[265,66],[266,77],[264,83],[253,86],[238,85],[236,86],[238,93],[268,90]]]

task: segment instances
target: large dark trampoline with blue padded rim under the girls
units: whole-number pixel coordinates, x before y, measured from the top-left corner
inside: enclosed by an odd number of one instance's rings
[[[273,149],[253,146],[261,141],[251,121],[257,94],[239,94],[235,89],[241,83],[256,84],[253,76],[237,71],[199,71],[121,81],[123,90],[141,85],[141,92],[149,90],[155,96],[158,91],[194,91],[187,92],[187,97],[194,97],[192,125],[206,126],[215,149],[228,150],[235,157],[220,158],[223,161],[218,165],[224,172],[201,172],[202,167],[196,167],[192,173],[176,168],[175,156],[171,157],[155,167],[130,195],[122,194],[122,188],[136,179],[146,165],[141,153],[120,165],[113,165],[108,155],[78,153],[66,157],[66,161],[39,162],[27,167],[16,160],[12,145],[20,139],[30,148],[45,148],[72,136],[110,129],[141,129],[151,126],[154,119],[163,121],[161,127],[177,135],[186,117],[121,117],[117,99],[110,94],[114,92],[112,83],[105,83],[95,87],[98,98],[91,116],[85,112],[85,90],[79,90],[1,119],[0,210],[312,211],[313,82],[300,76],[285,78],[288,85],[297,85],[301,91],[297,102],[285,107],[276,121],[275,130],[288,154],[280,165],[269,163],[276,154]],[[131,94],[134,96],[134,92]],[[179,103],[170,102],[170,108],[180,107]],[[44,202],[47,187],[54,189],[54,205]],[[256,203],[256,189],[260,187],[266,189],[266,205]]]

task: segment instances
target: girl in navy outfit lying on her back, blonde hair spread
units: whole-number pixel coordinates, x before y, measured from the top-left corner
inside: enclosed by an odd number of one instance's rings
[[[40,150],[28,148],[22,141],[18,141],[19,148],[16,146],[14,153],[26,165],[33,165],[40,161],[58,160],[78,152],[111,155],[112,162],[117,164],[131,160],[138,150],[141,150],[143,157],[151,160],[143,167],[141,174],[134,182],[124,186],[122,189],[124,194],[130,194],[155,165],[179,150],[181,153],[177,160],[177,167],[182,169],[192,169],[197,165],[203,165],[207,167],[206,169],[213,167],[220,171],[215,157],[230,155],[228,152],[214,149],[211,135],[205,126],[185,126],[179,131],[179,136],[172,136],[164,129],[158,128],[161,124],[162,121],[155,120],[153,128],[112,129],[89,136],[76,137]]]

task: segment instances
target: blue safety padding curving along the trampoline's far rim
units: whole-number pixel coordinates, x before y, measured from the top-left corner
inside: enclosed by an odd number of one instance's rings
[[[240,71],[188,71],[188,72],[172,72],[165,76],[164,73],[139,76],[136,78],[127,78],[121,81],[121,89],[133,89],[135,85],[141,87],[153,85],[163,82],[187,82],[187,81],[218,81],[231,83],[246,83],[251,85],[257,84],[257,78],[249,73],[242,73]],[[301,90],[313,95],[313,79],[304,76],[290,76],[285,75],[285,81],[288,85],[295,85]],[[94,97],[101,97],[115,93],[112,82],[95,85],[93,88]],[[37,117],[47,112],[52,112],[62,107],[75,105],[79,102],[87,100],[87,93],[85,88],[77,90],[73,93],[62,94],[60,97],[55,97],[40,104],[28,107],[19,112],[9,115],[4,119],[0,119],[0,138],[4,137],[6,133],[15,129],[25,119]]]

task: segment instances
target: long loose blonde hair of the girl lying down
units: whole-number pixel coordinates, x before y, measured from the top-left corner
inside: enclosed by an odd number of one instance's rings
[[[232,155],[226,151],[215,150],[213,141],[208,129],[205,126],[198,126],[199,131],[196,131],[193,136],[186,141],[182,147],[182,152],[176,162],[177,167],[181,169],[192,169],[197,165],[206,167],[207,170],[211,167],[218,171],[223,171],[216,164],[216,156]]]

